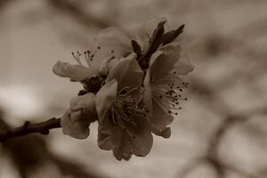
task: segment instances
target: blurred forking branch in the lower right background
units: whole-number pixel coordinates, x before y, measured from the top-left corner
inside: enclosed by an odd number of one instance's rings
[[[214,168],[217,177],[223,178],[226,176],[227,171],[231,171],[242,175],[244,178],[261,178],[264,177],[261,174],[249,174],[245,170],[224,163],[222,158],[219,156],[219,149],[223,142],[225,134],[231,130],[235,125],[239,125],[247,122],[250,118],[256,115],[267,114],[267,107],[259,107],[256,109],[247,110],[243,113],[236,113],[232,110],[220,97],[216,96],[214,89],[201,82],[197,78],[192,79],[194,84],[192,92],[198,97],[203,97],[203,101],[206,101],[207,107],[213,109],[220,116],[223,116],[223,122],[218,126],[210,138],[210,142],[207,143],[206,154],[200,158],[196,158],[186,166],[179,177],[185,178],[194,169],[200,166],[202,163],[207,163],[209,166]]]

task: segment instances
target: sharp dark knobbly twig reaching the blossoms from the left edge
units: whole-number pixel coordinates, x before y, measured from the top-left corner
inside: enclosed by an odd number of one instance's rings
[[[4,142],[13,137],[20,137],[33,133],[49,134],[50,129],[60,128],[60,127],[61,127],[61,118],[56,118],[56,117],[50,118],[44,122],[36,124],[30,124],[29,121],[26,121],[24,125],[16,128],[10,128],[7,125],[4,126],[2,125],[0,129],[0,142]]]

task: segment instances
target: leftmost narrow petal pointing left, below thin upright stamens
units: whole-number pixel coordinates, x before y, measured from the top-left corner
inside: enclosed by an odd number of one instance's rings
[[[53,73],[60,77],[69,77],[74,81],[82,81],[86,78],[96,76],[96,73],[93,70],[85,68],[81,65],[72,65],[68,62],[58,61],[53,66]]]

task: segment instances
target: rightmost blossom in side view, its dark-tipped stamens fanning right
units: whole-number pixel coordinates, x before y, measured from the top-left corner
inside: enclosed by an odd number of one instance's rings
[[[188,84],[182,81],[194,67],[181,56],[181,46],[170,43],[159,47],[150,59],[150,68],[144,78],[144,102],[149,110],[149,122],[154,134],[169,137],[168,127],[181,109],[182,90]]]

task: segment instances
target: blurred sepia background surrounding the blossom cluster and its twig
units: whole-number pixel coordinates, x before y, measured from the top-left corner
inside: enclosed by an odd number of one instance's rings
[[[170,139],[155,138],[146,158],[117,161],[54,129],[0,145],[0,178],[266,178],[267,2],[265,0],[0,0],[1,122],[60,117],[81,88],[53,75],[75,61],[101,29],[130,31],[165,16],[196,69],[189,101]]]

